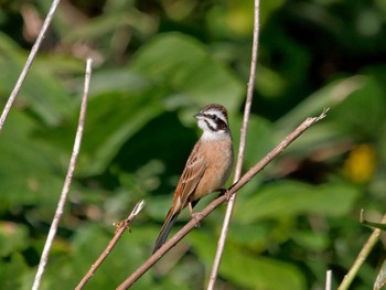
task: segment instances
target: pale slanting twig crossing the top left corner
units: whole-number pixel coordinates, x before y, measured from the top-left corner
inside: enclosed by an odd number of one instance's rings
[[[11,110],[11,107],[14,103],[14,100],[17,99],[18,95],[19,95],[19,92],[20,92],[20,88],[21,86],[23,85],[24,83],[24,79],[26,77],[26,74],[29,73],[30,68],[31,68],[31,65],[33,63],[33,60],[35,58],[36,54],[37,54],[37,51],[40,49],[40,45],[42,44],[43,40],[44,40],[44,35],[52,22],[52,19],[54,18],[54,13],[55,13],[55,10],[58,6],[58,3],[61,2],[61,0],[54,0],[52,1],[52,4],[51,4],[51,8],[50,8],[50,11],[49,11],[49,14],[46,15],[45,20],[44,20],[44,23],[39,32],[39,35],[36,37],[36,41],[35,43],[33,44],[32,46],[32,50],[30,52],[30,55],[29,57],[26,58],[25,61],[25,64],[24,64],[24,67],[18,78],[18,82],[17,84],[14,85],[14,88],[10,95],[10,97],[8,98],[8,101],[6,104],[6,107],[0,116],[0,132],[2,130],[2,126],[4,125],[4,121],[8,117],[8,114],[10,112]]]

